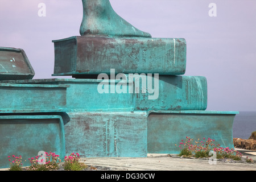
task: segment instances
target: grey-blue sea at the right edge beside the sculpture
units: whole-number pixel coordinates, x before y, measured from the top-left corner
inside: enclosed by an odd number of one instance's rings
[[[240,111],[233,123],[233,138],[248,139],[256,131],[256,111]]]

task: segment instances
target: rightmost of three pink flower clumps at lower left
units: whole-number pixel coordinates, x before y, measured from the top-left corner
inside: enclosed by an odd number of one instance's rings
[[[64,158],[64,169],[67,171],[80,171],[81,169],[86,168],[87,166],[84,163],[79,162],[80,155],[79,153],[73,152],[69,156]]]

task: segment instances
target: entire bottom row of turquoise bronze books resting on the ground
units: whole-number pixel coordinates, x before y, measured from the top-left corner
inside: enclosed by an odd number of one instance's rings
[[[0,168],[8,155],[23,160],[52,151],[82,157],[147,157],[179,154],[185,137],[211,138],[233,148],[235,111],[86,111],[9,113],[0,116]],[[177,144],[177,146],[175,146]]]

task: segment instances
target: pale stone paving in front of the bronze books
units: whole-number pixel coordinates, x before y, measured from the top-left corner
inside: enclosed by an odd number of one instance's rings
[[[256,155],[249,155],[249,158],[256,160]],[[149,154],[147,158],[86,158],[85,160],[88,166],[106,167],[113,171],[256,171],[255,162],[218,159],[216,164],[210,164],[208,159],[178,158],[176,155],[166,154]]]

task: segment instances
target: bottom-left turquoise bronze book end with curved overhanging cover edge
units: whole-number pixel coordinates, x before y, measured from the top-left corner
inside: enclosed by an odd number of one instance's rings
[[[0,138],[0,168],[10,167],[7,156],[21,155],[23,166],[30,166],[28,158],[42,155],[40,151],[55,152],[61,160],[66,155],[60,115],[0,115]]]

